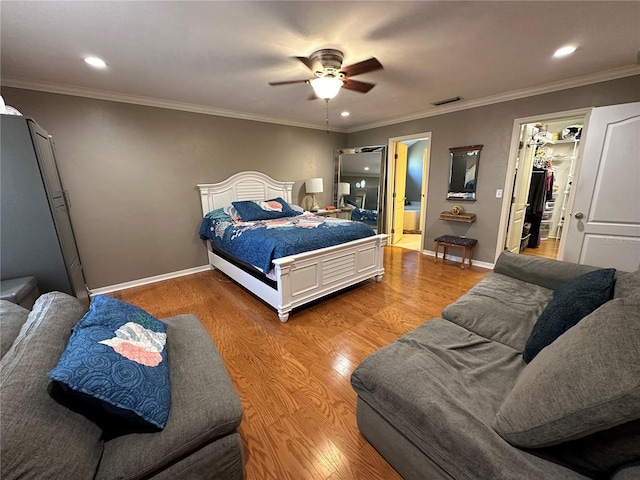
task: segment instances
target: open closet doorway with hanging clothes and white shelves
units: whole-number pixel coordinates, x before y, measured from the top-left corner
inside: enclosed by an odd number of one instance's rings
[[[579,110],[514,122],[507,173],[513,181],[505,185],[496,255],[509,250],[562,259],[561,239],[587,114]]]

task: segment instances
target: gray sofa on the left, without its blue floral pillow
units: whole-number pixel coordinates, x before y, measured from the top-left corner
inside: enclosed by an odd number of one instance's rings
[[[9,479],[242,479],[242,406],[193,315],[167,325],[171,408],[164,430],[105,435],[55,401],[47,377],[85,314],[74,297],[40,296],[31,312],[0,302],[1,476]]]

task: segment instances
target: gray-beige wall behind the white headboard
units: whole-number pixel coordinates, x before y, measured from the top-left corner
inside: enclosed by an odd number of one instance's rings
[[[258,170],[333,184],[346,134],[3,87],[53,136],[89,288],[207,264],[197,183]],[[318,194],[332,203],[331,188]],[[3,228],[5,225],[3,225]]]

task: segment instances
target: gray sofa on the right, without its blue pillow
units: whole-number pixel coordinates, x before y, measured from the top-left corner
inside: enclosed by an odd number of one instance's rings
[[[558,292],[595,270],[501,254],[354,370],[362,434],[405,479],[640,479],[640,271],[523,361]]]

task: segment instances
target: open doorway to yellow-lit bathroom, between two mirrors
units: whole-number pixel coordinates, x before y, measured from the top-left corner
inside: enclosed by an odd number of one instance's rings
[[[431,133],[389,139],[386,213],[389,244],[422,251]]]

